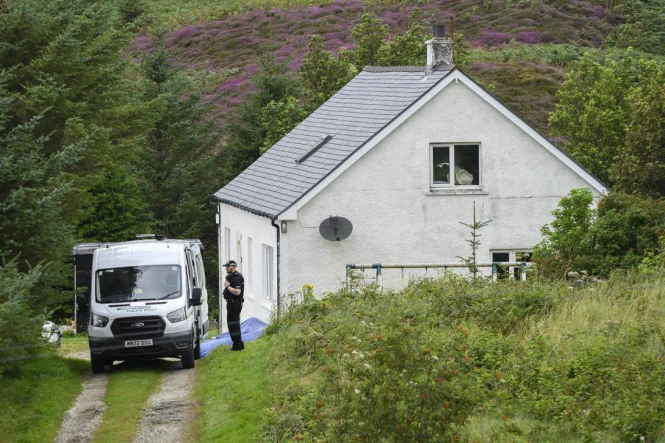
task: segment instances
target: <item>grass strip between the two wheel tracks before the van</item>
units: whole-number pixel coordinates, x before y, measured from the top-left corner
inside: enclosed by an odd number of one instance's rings
[[[141,408],[159,386],[166,361],[125,362],[109,372],[105,403],[108,405],[94,443],[132,442],[143,416]]]

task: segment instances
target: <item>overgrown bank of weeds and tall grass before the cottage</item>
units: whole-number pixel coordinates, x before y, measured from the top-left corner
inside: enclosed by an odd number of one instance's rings
[[[657,441],[664,295],[444,275],[303,300],[271,337],[261,441]]]

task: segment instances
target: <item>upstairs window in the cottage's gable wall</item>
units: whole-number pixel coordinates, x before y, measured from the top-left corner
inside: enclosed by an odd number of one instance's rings
[[[431,145],[433,187],[480,186],[480,145]]]

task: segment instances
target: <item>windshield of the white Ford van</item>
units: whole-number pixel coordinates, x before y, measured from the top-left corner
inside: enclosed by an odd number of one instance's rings
[[[97,271],[100,303],[167,300],[180,296],[180,266],[129,266]]]

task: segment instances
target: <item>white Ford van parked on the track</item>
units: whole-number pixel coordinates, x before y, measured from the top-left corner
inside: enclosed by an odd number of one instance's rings
[[[92,372],[116,360],[179,357],[193,368],[209,332],[197,240],[103,244],[92,259],[88,341]]]

